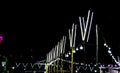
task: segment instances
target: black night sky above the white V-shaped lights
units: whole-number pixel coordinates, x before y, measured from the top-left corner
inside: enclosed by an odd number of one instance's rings
[[[79,27],[78,17],[87,16],[90,9],[94,12],[93,27],[98,24],[115,56],[120,56],[120,14],[117,2],[94,0],[27,2],[2,7],[0,16],[0,30],[4,36],[0,45],[2,55],[45,57],[62,36],[68,37],[68,29],[71,29],[73,23]],[[80,31],[77,32],[80,35]],[[94,40],[91,37],[90,39]]]

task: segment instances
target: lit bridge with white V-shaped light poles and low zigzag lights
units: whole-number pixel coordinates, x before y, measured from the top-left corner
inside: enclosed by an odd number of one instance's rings
[[[79,24],[72,24],[72,29],[68,29],[68,36],[62,37],[51,51],[46,54],[44,61],[15,63],[12,66],[13,72],[23,70],[23,73],[102,73],[104,69],[109,71],[120,70],[120,59],[119,57],[116,59],[105,37],[99,34],[99,26],[93,24],[93,14],[88,10],[87,18],[80,16]],[[94,31],[91,29],[93,26]],[[80,33],[77,31],[80,31]],[[91,36],[91,34],[94,35]],[[100,35],[103,38],[102,44],[99,43]],[[94,38],[92,40],[94,42],[91,42],[90,38]],[[88,60],[87,56],[89,55],[86,55],[86,50],[91,46],[95,48],[93,50],[95,54],[94,56],[92,56],[93,54],[90,55]],[[107,54],[114,61],[114,65],[104,66],[99,62],[99,46],[106,48]],[[80,59],[76,60],[77,58]],[[3,62],[3,66],[5,66],[4,64],[5,62]]]

